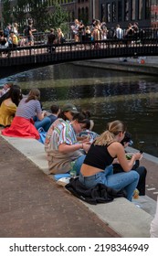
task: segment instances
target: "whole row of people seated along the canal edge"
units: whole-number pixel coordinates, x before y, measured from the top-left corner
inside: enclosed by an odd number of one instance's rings
[[[123,189],[130,201],[136,187],[140,195],[145,195],[146,169],[133,166],[142,154],[135,153],[130,160],[126,158],[124,148],[131,137],[124,123],[119,120],[108,123],[105,132],[99,135],[91,131],[88,112],[79,112],[68,103],[61,110],[57,105],[52,106],[55,115],[47,115],[39,100],[39,90],[31,89],[24,96],[19,86],[12,85],[0,98],[0,124],[5,126],[1,133],[39,139],[37,129],[43,125],[47,132],[45,151],[50,174],[69,173],[71,163],[75,162],[79,182],[87,188],[103,184],[115,190]]]

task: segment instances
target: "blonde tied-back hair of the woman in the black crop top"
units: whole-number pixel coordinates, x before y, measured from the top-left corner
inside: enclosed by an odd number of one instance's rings
[[[115,136],[119,133],[124,133],[126,131],[126,127],[124,123],[120,120],[115,120],[111,123],[107,124],[107,130],[104,133],[101,133],[99,137],[96,138],[94,144],[99,145],[107,145],[111,144],[111,142],[116,141]]]

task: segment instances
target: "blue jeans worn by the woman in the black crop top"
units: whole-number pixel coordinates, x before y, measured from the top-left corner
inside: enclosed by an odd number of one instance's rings
[[[113,189],[123,188],[127,193],[127,199],[132,201],[133,191],[137,187],[139,177],[139,174],[133,170],[113,175],[112,165],[109,165],[105,171],[93,176],[83,176],[80,173],[79,181],[88,188],[95,187],[98,183]]]

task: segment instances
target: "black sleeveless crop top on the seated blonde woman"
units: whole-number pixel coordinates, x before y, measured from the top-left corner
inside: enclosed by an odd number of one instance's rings
[[[84,164],[105,170],[108,165],[111,165],[114,157],[112,157],[108,150],[108,145],[94,145],[91,144],[90,150],[86,155]]]

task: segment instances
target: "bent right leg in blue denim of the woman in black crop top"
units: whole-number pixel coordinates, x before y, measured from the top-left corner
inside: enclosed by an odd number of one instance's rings
[[[127,193],[127,199],[132,201],[134,189],[137,187],[139,181],[139,174],[136,171],[122,172],[119,174],[106,176],[105,185],[114,189],[124,188]]]

